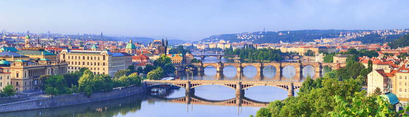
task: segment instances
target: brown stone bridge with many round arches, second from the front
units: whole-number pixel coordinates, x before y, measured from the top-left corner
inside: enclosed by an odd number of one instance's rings
[[[198,72],[204,72],[204,68],[207,66],[213,66],[216,68],[217,72],[223,72],[223,69],[226,66],[233,66],[237,69],[238,73],[243,72],[243,68],[246,66],[254,66],[257,69],[258,73],[262,73],[264,67],[267,66],[273,66],[277,71],[277,74],[282,74],[282,69],[285,66],[291,65],[295,68],[296,73],[302,73],[302,69],[306,66],[312,66],[315,68],[316,73],[321,73],[322,68],[324,66],[329,66],[332,69],[336,69],[338,67],[344,67],[346,64],[345,63],[321,63],[321,62],[269,62],[269,63],[264,63],[264,62],[259,62],[259,63],[223,63],[223,62],[218,62],[218,63],[191,63],[195,65],[198,68]]]

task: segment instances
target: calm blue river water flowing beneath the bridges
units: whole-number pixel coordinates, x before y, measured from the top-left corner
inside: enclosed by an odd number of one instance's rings
[[[204,62],[218,61],[211,57],[204,60]],[[227,59],[222,61],[227,62]],[[322,74],[330,70],[331,68],[324,68]],[[241,79],[289,81],[291,73],[294,81],[303,81],[307,75],[311,75],[312,78],[318,77],[312,66],[303,69],[302,77],[295,73],[295,68],[292,66],[284,67],[282,76],[276,75],[274,67],[266,67],[260,75],[255,67],[249,66],[244,68]],[[191,78],[190,75],[189,79]],[[218,78],[238,80],[240,74],[237,74],[237,69],[234,67],[225,67],[223,73],[217,73],[214,67],[206,67],[204,74],[193,74],[193,79]],[[181,80],[186,79],[187,75],[181,76]],[[266,107],[270,101],[287,98],[287,94],[286,90],[277,87],[257,86],[245,90],[244,97],[241,97],[235,95],[234,89],[225,86],[204,85],[196,87],[195,93],[190,95],[186,95],[185,89],[180,88],[168,90],[163,95],[144,93],[86,104],[2,113],[0,117],[249,117],[249,115],[255,116],[256,111]],[[185,98],[192,98],[195,102],[186,102],[183,100]],[[248,103],[241,103],[239,106],[226,103],[237,99]]]

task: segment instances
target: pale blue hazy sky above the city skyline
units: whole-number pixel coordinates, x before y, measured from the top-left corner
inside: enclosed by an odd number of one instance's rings
[[[7,32],[175,37],[409,28],[409,0],[1,0]]]

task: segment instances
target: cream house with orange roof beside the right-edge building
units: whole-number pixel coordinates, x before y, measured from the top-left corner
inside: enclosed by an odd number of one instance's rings
[[[395,71],[396,72],[396,71]],[[368,94],[374,93],[379,87],[382,92],[393,92],[393,78],[395,73],[391,70],[376,69],[367,75],[368,77]]]

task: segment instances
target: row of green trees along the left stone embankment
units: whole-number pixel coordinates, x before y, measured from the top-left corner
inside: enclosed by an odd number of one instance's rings
[[[132,67],[131,67],[132,66]],[[40,88],[49,95],[68,95],[74,93],[85,93],[88,97],[94,92],[110,92],[116,87],[140,86],[142,78],[132,74],[135,68],[131,65],[124,72],[117,72],[111,77],[107,74],[94,75],[88,68],[81,68],[79,71],[64,75],[42,75]],[[134,69],[132,69],[134,68]]]

